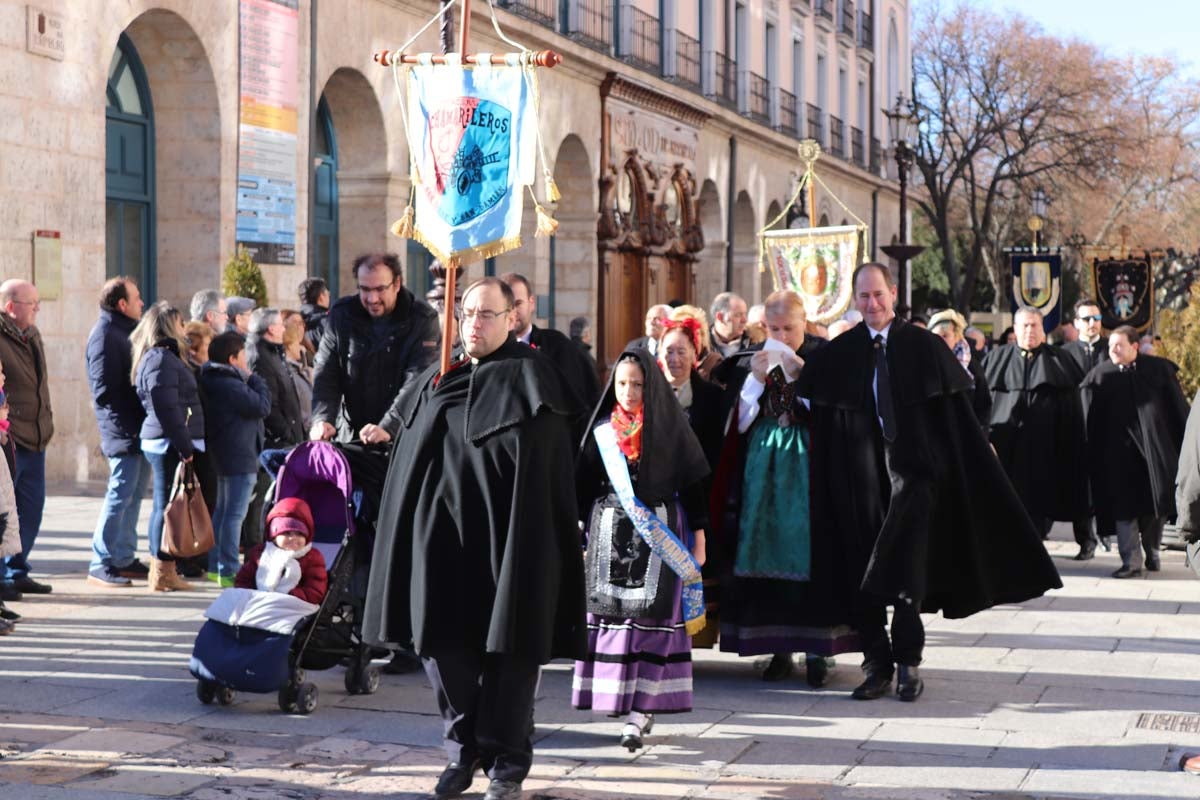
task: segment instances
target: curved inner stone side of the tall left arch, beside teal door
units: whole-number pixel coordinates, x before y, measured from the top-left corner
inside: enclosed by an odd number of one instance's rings
[[[221,283],[221,108],[212,65],[179,14],[156,8],[125,35],[145,68],[155,120],[157,296],[186,308]]]

